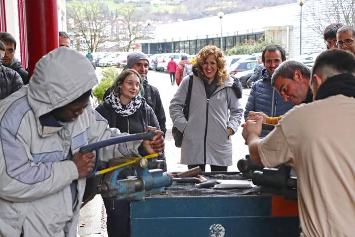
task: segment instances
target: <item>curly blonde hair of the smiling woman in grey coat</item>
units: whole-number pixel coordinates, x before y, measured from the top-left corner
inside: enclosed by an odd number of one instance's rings
[[[203,47],[196,56],[195,63],[197,66],[195,71],[197,74],[205,76],[203,74],[202,65],[210,55],[214,55],[217,59],[217,85],[224,86],[224,81],[229,78],[229,74],[225,68],[226,60],[224,59],[222,50],[220,48],[217,48],[214,45],[207,45]]]

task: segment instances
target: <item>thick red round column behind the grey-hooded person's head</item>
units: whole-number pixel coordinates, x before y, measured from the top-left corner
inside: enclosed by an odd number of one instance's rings
[[[26,1],[28,73],[43,55],[59,46],[57,0]]]

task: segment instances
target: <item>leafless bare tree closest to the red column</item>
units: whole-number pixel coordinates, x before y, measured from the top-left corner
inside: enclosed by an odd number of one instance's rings
[[[110,16],[107,6],[102,0],[75,1],[68,7],[68,16],[68,22],[72,21],[68,28],[75,38],[84,39],[87,49],[96,52],[106,38],[104,30]]]

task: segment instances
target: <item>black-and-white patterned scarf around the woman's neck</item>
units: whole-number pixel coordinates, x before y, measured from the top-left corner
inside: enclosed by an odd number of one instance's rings
[[[128,105],[124,106],[121,103],[120,97],[114,92],[105,98],[105,101],[108,101],[114,109],[114,111],[121,115],[122,117],[128,117],[134,114],[137,109],[140,107],[142,103],[142,97],[138,93],[131,101],[129,101]]]

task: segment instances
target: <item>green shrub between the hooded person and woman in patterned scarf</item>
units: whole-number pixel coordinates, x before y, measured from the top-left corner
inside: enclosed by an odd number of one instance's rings
[[[102,71],[102,80],[92,91],[93,95],[97,98],[98,103],[101,103],[103,94],[110,86],[112,86],[118,75],[119,73],[114,66],[108,67]]]

